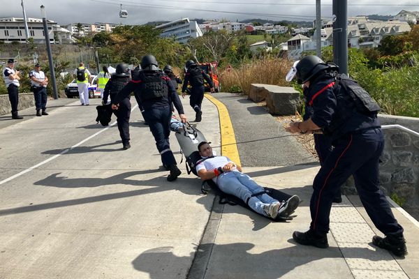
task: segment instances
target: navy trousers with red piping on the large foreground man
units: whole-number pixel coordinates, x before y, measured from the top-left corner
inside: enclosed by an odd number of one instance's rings
[[[314,179],[310,229],[317,234],[328,233],[332,199],[352,174],[361,202],[374,225],[387,236],[402,233],[403,228],[397,223],[378,186],[378,160],[384,147],[381,129],[344,135],[333,145],[335,149]]]

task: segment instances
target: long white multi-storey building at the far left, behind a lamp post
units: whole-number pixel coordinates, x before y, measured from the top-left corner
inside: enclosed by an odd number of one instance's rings
[[[27,18],[29,37],[34,38],[34,43],[45,42],[45,33],[43,30],[43,22],[38,18]],[[54,43],[54,31],[56,31],[56,22],[47,20],[48,33],[50,42]],[[26,33],[24,31],[24,20],[22,17],[5,17],[0,18],[0,40],[4,43],[20,42],[26,43]]]

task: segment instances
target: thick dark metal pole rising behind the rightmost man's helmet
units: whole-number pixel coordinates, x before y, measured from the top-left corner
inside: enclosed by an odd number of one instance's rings
[[[348,74],[348,1],[333,0],[333,62]]]

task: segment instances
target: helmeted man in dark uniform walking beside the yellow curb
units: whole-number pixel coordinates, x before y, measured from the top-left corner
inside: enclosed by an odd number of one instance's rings
[[[204,98],[204,80],[210,84],[211,92],[214,92],[214,84],[207,73],[205,73],[201,68],[196,65],[195,61],[188,60],[185,63],[186,73],[185,80],[182,86],[182,98],[185,98],[186,89],[188,89],[188,84],[191,84],[191,96],[189,97],[189,104],[195,110],[196,116],[195,121],[200,122],[202,119],[203,112],[201,110],[201,104],[203,103]]]

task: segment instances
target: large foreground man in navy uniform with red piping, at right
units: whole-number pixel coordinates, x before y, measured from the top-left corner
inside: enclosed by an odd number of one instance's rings
[[[378,186],[378,160],[384,146],[378,117],[376,112],[360,112],[352,98],[340,98],[347,96],[348,92],[345,93],[341,85],[335,86],[332,73],[336,68],[314,55],[305,56],[292,68],[297,82],[309,89],[306,98],[313,108],[313,114],[305,121],[291,123],[287,130],[291,133],[307,133],[321,129],[335,146],[313,182],[310,228],[307,232],[294,232],[293,239],[302,245],[318,248],[329,246],[327,234],[332,199],[339,187],[353,175],[369,218],[385,234],[384,238],[374,236],[372,243],[403,257],[407,255],[403,227],[397,223]],[[288,81],[293,78],[290,73],[287,75]],[[369,100],[366,103],[374,102],[367,97]]]

